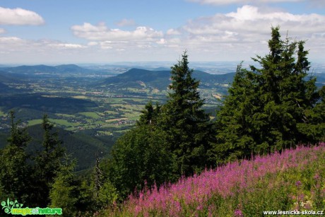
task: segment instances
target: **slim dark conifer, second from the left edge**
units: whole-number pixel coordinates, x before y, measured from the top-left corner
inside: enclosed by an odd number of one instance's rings
[[[47,115],[43,116],[42,129],[44,136],[42,150],[35,157],[35,177],[33,180],[35,190],[33,197],[38,206],[46,207],[49,204],[49,190],[59,170],[60,160],[64,156],[64,148],[61,146],[57,132],[53,132],[54,125],[49,122]]]

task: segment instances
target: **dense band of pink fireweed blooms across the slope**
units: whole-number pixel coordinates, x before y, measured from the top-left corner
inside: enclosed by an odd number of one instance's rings
[[[129,213],[157,211],[160,215],[181,215],[188,206],[205,206],[211,197],[222,198],[236,194],[236,191],[254,190],[254,180],[259,180],[266,174],[288,170],[290,168],[307,167],[310,159],[317,159],[317,153],[325,151],[325,143],[319,146],[299,146],[269,156],[256,156],[252,160],[241,160],[220,166],[214,170],[205,170],[194,177],[182,177],[175,184],[163,184],[159,188],[153,187],[137,194],[138,197],[129,197],[124,204],[124,209]],[[314,178],[319,178],[315,177]],[[301,181],[295,182],[297,187],[302,186]],[[325,189],[324,189],[325,190]],[[303,197],[302,197],[303,199]],[[295,198],[297,200],[297,196]],[[198,205],[199,204],[199,205]],[[183,210],[184,209],[184,210]],[[237,216],[242,209],[237,207]],[[209,210],[213,213],[213,210]],[[141,214],[142,213],[142,214]]]

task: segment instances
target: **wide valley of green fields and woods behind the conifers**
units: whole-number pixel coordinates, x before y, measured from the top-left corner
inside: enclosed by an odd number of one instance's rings
[[[169,72],[162,72],[163,80],[155,78],[153,71],[134,71],[143,81],[132,80],[134,76],[127,76],[127,72],[125,76],[121,74],[126,79],[121,83],[110,83],[111,80],[105,80],[102,74],[90,76],[73,72],[21,75],[21,79],[18,76],[17,81],[15,78],[6,83],[15,91],[0,93],[0,129],[8,131],[7,114],[14,110],[23,126],[40,124],[42,116],[47,114],[56,127],[73,132],[98,136],[124,133],[136,124],[146,103],[165,103],[170,83]],[[225,94],[223,85],[205,81],[199,89],[211,118]]]

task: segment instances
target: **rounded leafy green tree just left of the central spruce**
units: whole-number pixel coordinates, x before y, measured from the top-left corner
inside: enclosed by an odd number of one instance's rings
[[[166,137],[165,132],[146,125],[118,139],[112,149],[112,158],[102,167],[120,198],[125,199],[135,189],[159,186],[173,179],[175,158],[165,145]]]

